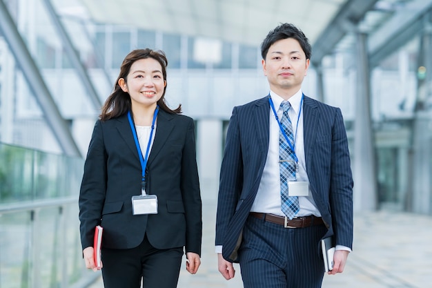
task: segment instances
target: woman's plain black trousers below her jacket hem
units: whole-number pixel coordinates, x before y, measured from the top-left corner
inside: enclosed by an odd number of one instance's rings
[[[160,250],[144,237],[132,249],[102,249],[102,277],[106,288],[175,288],[183,247]]]

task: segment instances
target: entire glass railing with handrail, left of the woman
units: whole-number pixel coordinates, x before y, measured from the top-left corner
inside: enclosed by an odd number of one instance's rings
[[[0,143],[0,287],[85,287],[78,195],[84,160]]]

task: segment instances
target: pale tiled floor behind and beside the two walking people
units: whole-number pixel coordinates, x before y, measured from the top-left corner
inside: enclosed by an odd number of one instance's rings
[[[217,271],[214,253],[215,202],[203,204],[202,265],[196,275],[182,267],[179,288],[242,288],[238,265],[234,279]],[[353,252],[344,273],[324,276],[324,288],[432,287],[432,217],[375,212],[355,215]],[[90,288],[103,287],[99,279]],[[264,288],[264,287],[263,287]]]

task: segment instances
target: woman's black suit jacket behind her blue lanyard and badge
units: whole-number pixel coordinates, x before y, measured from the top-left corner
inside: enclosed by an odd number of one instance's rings
[[[157,249],[185,246],[200,255],[202,202],[195,156],[193,119],[159,111],[146,170],[146,192],[157,195],[158,213],[132,215],[132,196],[141,193],[141,163],[128,117],[98,120],[79,195],[83,249],[93,245],[95,226],[101,224],[102,247],[134,248],[146,233]]]

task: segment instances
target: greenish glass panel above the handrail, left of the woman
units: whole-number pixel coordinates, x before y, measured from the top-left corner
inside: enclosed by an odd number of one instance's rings
[[[0,203],[77,195],[84,160],[0,143]]]

